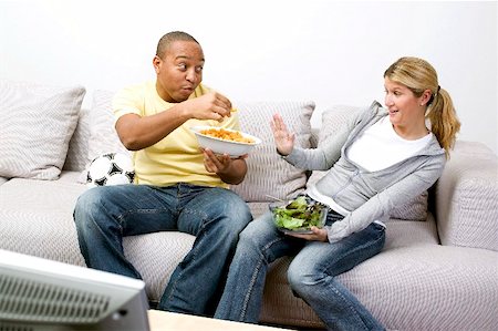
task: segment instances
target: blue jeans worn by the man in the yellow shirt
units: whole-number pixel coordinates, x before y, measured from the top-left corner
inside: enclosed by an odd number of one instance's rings
[[[123,237],[167,230],[196,236],[158,309],[199,316],[214,313],[239,234],[251,219],[234,192],[185,183],[96,187],[80,196],[74,209],[86,265],[133,278],[142,277],[123,254]]]

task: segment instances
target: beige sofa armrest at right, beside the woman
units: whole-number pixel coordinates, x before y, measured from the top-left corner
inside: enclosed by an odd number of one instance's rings
[[[498,161],[481,143],[457,142],[435,187],[443,245],[498,251]]]

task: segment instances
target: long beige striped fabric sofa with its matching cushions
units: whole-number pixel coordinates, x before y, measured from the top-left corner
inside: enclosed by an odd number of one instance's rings
[[[100,154],[124,152],[112,126],[113,93],[95,91],[91,106],[82,108],[84,94],[77,86],[0,81],[1,249],[84,266],[72,219],[77,196],[87,189],[84,169]],[[234,187],[255,217],[268,208],[268,196],[293,197],[321,175],[295,169],[276,155],[271,114],[283,115],[300,146],[313,147],[359,110],[333,106],[315,131],[310,125],[313,102],[236,105],[242,130],[263,139],[248,158],[245,183]],[[459,141],[428,199],[424,195],[394,210],[384,250],[341,275],[341,281],[390,330],[497,330],[497,156],[488,147]],[[125,252],[142,272],[152,301],[193,241],[173,231],[125,238]],[[271,266],[261,322],[322,328],[291,293],[289,261]]]

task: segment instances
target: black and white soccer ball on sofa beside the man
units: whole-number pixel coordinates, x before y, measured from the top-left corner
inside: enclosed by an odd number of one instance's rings
[[[131,184],[135,178],[135,170],[129,156],[122,153],[108,153],[95,157],[86,174],[86,186],[106,186]]]

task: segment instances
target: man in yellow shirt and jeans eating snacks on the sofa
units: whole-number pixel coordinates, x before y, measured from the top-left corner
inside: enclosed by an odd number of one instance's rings
[[[191,35],[170,32],[159,40],[156,81],[124,89],[113,100],[117,134],[134,151],[137,185],[90,189],[74,210],[86,265],[133,278],[141,275],[123,254],[124,236],[163,230],[196,236],[158,309],[200,316],[211,313],[238,235],[251,220],[246,203],[228,189],[243,180],[245,156],[200,151],[189,130],[239,128],[230,101],[200,84],[204,63]]]

